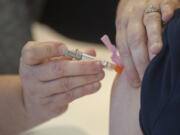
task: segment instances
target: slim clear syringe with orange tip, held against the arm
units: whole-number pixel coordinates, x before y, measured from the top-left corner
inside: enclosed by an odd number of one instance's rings
[[[85,54],[85,53],[79,51],[78,49],[76,49],[75,51],[67,50],[64,55],[65,56],[71,56],[77,60],[97,60],[97,61],[100,61],[102,63],[103,68],[106,68],[108,70],[114,70],[118,74],[121,74],[121,72],[123,70],[123,67],[115,65],[115,64],[108,62],[106,60],[102,60],[102,59],[99,59],[97,57],[90,56],[88,54]]]

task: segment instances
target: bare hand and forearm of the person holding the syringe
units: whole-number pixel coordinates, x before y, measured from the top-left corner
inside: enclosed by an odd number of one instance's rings
[[[20,76],[0,77],[0,134],[15,135],[48,121],[75,99],[99,90],[102,65],[72,61],[62,56],[66,49],[56,42],[28,42],[22,50]],[[95,55],[94,50],[86,53]]]

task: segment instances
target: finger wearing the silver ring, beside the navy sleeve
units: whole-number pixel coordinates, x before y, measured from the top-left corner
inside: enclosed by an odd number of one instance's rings
[[[160,52],[163,45],[160,13],[154,12],[154,13],[145,14],[144,24],[148,36],[149,55],[150,58],[152,58],[153,54],[158,54]]]

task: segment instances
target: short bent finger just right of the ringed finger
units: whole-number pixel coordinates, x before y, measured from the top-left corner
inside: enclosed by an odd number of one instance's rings
[[[162,20],[167,23],[174,15],[175,7],[171,4],[172,2],[163,1],[160,5]]]

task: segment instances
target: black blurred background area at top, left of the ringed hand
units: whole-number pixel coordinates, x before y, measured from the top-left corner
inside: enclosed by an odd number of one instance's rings
[[[100,43],[104,33],[114,39],[117,3],[118,0],[47,0],[40,21],[70,38]]]

